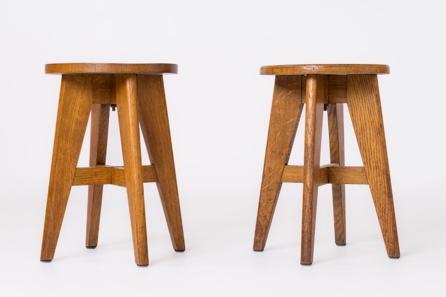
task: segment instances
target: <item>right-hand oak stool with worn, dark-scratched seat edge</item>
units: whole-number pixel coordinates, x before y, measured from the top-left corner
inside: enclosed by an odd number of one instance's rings
[[[276,75],[269,121],[254,251],[263,251],[282,182],[303,183],[301,264],[313,263],[318,187],[332,184],[335,243],[346,244],[345,184],[369,185],[387,255],[400,257],[392,186],[376,74],[387,65],[320,64],[263,66]],[[305,111],[303,166],[288,165],[297,125]],[[343,103],[350,112],[363,167],[344,164]],[[330,164],[319,165],[322,118],[327,111]]]

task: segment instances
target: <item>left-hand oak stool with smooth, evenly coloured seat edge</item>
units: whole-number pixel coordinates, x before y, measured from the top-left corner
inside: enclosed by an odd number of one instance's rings
[[[135,262],[149,265],[144,182],[156,182],[176,252],[184,236],[162,74],[176,64],[47,64],[62,74],[41,261],[51,262],[71,186],[88,186],[86,247],[98,244],[103,185],[127,188]],[[105,165],[110,106],[118,109],[124,166]],[[90,167],[76,168],[91,111]],[[152,165],[141,164],[140,130]]]

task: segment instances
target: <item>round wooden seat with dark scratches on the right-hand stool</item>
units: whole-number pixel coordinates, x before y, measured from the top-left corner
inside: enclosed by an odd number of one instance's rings
[[[389,74],[388,65],[376,64],[307,64],[307,65],[273,65],[260,67],[260,74]]]

